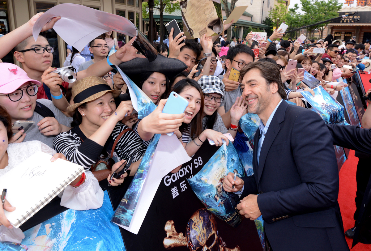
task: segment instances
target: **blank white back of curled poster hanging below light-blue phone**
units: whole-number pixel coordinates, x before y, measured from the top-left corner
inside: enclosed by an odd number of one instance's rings
[[[190,159],[175,134],[172,136],[161,135],[133,218],[129,227],[124,227],[124,229],[133,234],[138,234],[162,178],[171,170],[190,161]]]

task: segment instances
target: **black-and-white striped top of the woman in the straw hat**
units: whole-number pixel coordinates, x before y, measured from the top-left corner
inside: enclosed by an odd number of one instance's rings
[[[118,122],[111,134],[113,140],[116,140],[117,136],[127,128],[127,126]],[[76,129],[79,130],[79,128]],[[90,166],[101,155],[103,146],[88,138],[82,142],[78,134],[69,130],[55,137],[53,148],[56,152],[65,155],[69,161],[82,165],[85,170],[89,170]],[[121,136],[114,151],[121,159],[134,156],[133,162],[135,162],[143,158],[146,149],[142,140],[133,131],[128,131]]]

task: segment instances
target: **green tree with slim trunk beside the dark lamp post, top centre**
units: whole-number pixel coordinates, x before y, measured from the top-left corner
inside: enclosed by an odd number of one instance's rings
[[[160,34],[161,40],[160,44],[163,43],[163,35],[165,34],[164,26],[164,11],[166,13],[173,13],[175,10],[180,10],[180,5],[178,2],[173,2],[173,7],[171,7],[171,0],[154,0],[155,7],[153,10],[158,10],[160,12]],[[146,19],[150,17],[150,13],[147,12],[148,2],[142,2],[142,18]]]

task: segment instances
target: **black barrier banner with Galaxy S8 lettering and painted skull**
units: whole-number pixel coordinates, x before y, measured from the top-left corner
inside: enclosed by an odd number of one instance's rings
[[[138,234],[122,231],[127,251],[262,250],[254,221],[231,227],[205,208],[187,182],[219,148],[204,143],[178,172],[164,176]]]

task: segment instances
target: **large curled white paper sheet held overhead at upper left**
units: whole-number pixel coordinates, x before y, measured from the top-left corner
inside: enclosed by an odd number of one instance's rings
[[[82,51],[91,40],[109,31],[137,37],[134,23],[125,17],[95,10],[80,4],[63,3],[47,10],[33,26],[35,41],[42,27],[53,17],[61,17],[53,29],[69,45]]]

